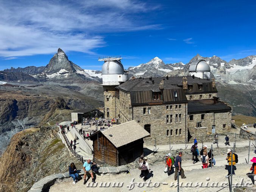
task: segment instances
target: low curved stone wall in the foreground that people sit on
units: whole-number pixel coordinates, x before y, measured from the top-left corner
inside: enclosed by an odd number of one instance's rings
[[[122,172],[127,172],[128,168],[125,167],[125,165],[121,165],[119,167],[99,167],[99,173],[122,173]],[[79,175],[83,175],[84,170],[81,170]],[[41,180],[37,181],[36,183],[33,184],[30,190],[28,192],[43,192],[50,186],[52,186],[57,179],[63,180],[64,178],[69,178],[69,172],[65,173],[57,173],[54,175],[49,175],[46,176],[45,178],[42,178]]]

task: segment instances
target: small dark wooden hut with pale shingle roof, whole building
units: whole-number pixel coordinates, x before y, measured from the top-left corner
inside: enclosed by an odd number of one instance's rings
[[[143,154],[143,138],[150,135],[136,121],[128,121],[90,136],[94,161],[112,166],[133,162]]]

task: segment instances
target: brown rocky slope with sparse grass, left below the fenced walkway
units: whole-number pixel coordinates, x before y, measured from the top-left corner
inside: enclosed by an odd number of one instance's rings
[[[82,168],[59,139],[58,128],[40,127],[21,131],[12,137],[0,158],[0,192],[26,192],[34,182],[66,172],[74,162]]]

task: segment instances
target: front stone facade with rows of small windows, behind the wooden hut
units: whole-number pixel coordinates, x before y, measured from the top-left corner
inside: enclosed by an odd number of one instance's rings
[[[175,106],[177,105],[177,109]],[[179,107],[179,105],[181,105]],[[169,143],[169,137],[171,139],[171,143],[184,143],[186,140],[186,123],[185,116],[187,104],[175,104],[172,105],[172,109],[170,109],[170,105],[168,105],[168,109],[166,105],[152,105],[152,106],[137,106],[133,107],[133,119],[139,121],[139,124],[144,127],[145,125],[150,125],[151,136],[146,137],[144,142],[146,144],[155,144],[155,139],[157,144],[164,145]],[[144,109],[146,108],[146,114],[143,114]],[[151,108],[151,113],[148,114],[148,108]],[[167,122],[168,115],[168,122]],[[170,122],[170,116],[172,115],[172,122]],[[175,122],[177,115],[178,122]],[[179,122],[179,115],[181,115],[181,122]],[[167,130],[168,136],[167,136]],[[177,134],[176,134],[177,130]],[[181,131],[181,134],[180,134]],[[172,132],[172,133],[171,133]]]

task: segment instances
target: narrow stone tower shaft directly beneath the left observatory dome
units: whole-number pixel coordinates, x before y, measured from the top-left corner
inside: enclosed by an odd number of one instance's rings
[[[112,119],[116,117],[116,89],[115,86],[103,86],[104,89],[104,117]],[[108,116],[109,112],[109,116]]]

